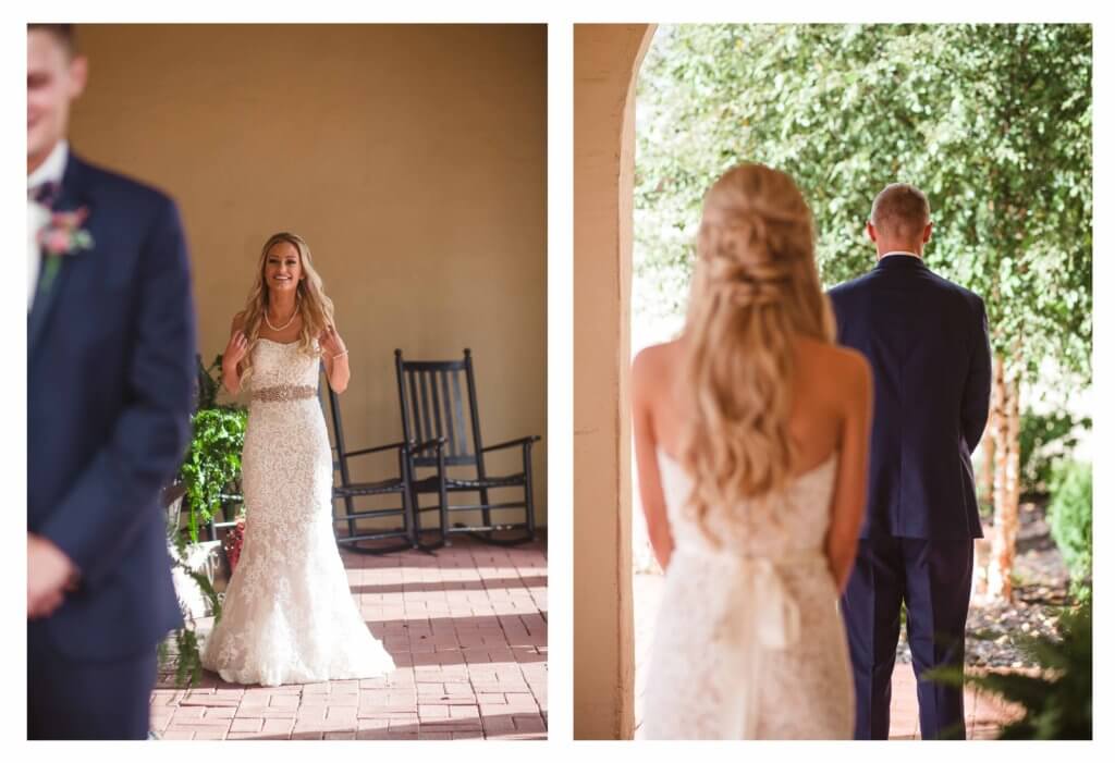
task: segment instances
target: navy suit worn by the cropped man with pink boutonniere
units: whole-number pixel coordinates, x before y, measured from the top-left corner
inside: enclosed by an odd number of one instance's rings
[[[182,627],[159,493],[190,438],[190,265],[168,197],[71,154],[54,209],[79,207],[93,248],[28,315],[28,530],[80,571],[28,620],[28,735],[144,738],[156,645]]]

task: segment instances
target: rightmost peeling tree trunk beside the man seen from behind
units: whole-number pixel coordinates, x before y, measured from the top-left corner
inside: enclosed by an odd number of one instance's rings
[[[1015,539],[1018,536],[1018,380],[1007,379],[1004,359],[995,359],[991,387],[991,420],[995,441],[995,528],[991,535],[991,564],[988,594],[1005,600],[1014,596],[1010,575],[1015,568]]]

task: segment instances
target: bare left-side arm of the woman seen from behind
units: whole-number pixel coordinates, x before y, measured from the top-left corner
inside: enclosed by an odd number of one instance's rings
[[[653,370],[651,359],[640,352],[631,366],[631,424],[634,433],[634,457],[639,469],[639,498],[647,518],[647,535],[655,557],[665,570],[673,554],[673,535],[666,512],[666,497],[658,471],[657,438],[651,413]]]

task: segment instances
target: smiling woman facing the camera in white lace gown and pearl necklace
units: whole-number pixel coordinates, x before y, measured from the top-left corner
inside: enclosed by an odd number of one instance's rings
[[[333,326],[306,242],[277,233],[259,280],[232,322],[224,384],[251,393],[244,436],[244,548],[202,664],[237,684],[366,678],[395,669],[349,593],[332,529],[332,454],[318,402],[349,382],[348,350]]]

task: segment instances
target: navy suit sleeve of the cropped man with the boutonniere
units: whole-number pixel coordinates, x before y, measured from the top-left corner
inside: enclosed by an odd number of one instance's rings
[[[177,208],[163,204],[137,263],[126,404],[112,436],[41,528],[95,589],[152,517],[190,438],[195,327]],[[125,338],[127,339],[127,338]]]

